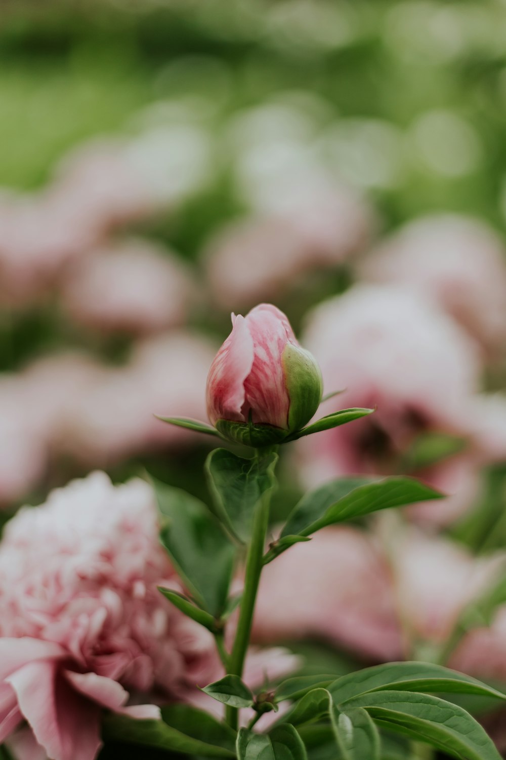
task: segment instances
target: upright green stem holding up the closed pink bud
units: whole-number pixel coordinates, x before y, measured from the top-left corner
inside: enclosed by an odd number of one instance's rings
[[[256,457],[259,457],[256,451]],[[233,676],[243,675],[244,659],[250,644],[251,625],[255,611],[256,593],[259,587],[263,567],[263,551],[266,546],[267,528],[269,527],[270,492],[263,494],[253,515],[251,543],[246,559],[244,591],[240,603],[239,621],[235,634],[234,646],[228,663],[228,673]],[[237,729],[237,708],[227,707],[227,720],[232,728]]]

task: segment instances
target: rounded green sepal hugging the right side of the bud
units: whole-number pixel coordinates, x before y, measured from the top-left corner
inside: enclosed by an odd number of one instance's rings
[[[294,432],[310,421],[322,401],[322,372],[309,351],[291,343],[284,347],[281,363],[290,399],[288,429]]]

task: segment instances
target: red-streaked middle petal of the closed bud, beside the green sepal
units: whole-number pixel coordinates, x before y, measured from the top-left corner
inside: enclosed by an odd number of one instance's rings
[[[297,340],[283,312],[270,304],[256,306],[246,321],[253,337],[254,359],[244,382],[244,417],[247,419],[251,410],[253,423],[286,428],[290,398],[281,356],[284,347],[298,345]]]

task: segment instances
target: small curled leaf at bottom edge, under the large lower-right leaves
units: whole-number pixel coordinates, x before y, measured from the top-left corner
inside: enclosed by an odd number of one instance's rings
[[[341,712],[331,710],[337,745],[336,760],[379,760],[379,731],[363,708]]]

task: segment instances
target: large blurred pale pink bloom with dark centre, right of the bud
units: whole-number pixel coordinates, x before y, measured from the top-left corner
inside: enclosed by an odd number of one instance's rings
[[[499,422],[494,451],[484,443],[491,431],[479,415],[484,397],[477,394],[481,366],[473,340],[422,297],[360,285],[314,310],[303,343],[319,360],[325,391],[346,389],[323,413],[377,407],[367,419],[300,441],[305,482],[399,473],[419,435],[448,433],[466,439],[465,451],[415,474],[450,498],[410,511],[436,524],[462,514],[479,489],[482,464],[506,455]]]

